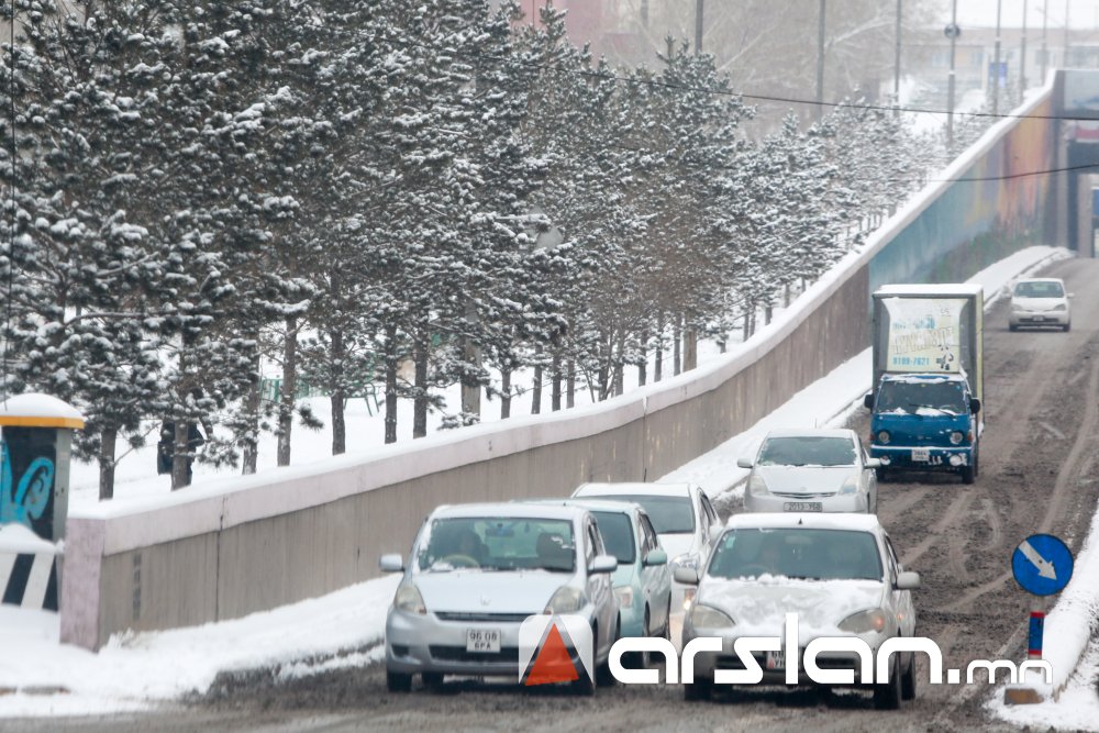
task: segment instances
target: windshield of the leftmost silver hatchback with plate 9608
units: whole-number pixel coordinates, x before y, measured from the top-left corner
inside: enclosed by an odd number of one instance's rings
[[[541,568],[571,573],[576,567],[573,523],[514,517],[439,519],[421,541],[418,565],[428,571]]]

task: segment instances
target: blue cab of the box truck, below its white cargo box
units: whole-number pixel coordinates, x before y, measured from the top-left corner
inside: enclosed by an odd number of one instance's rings
[[[964,374],[886,374],[865,398],[878,478],[895,470],[978,471],[980,399]]]

